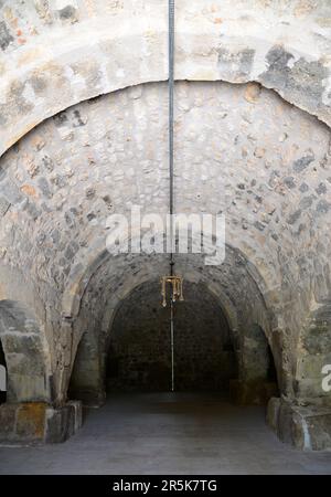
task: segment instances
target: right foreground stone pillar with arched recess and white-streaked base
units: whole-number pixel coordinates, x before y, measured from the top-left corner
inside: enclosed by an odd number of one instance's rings
[[[267,422],[282,442],[306,451],[331,448],[331,392],[323,367],[331,363],[331,305],[320,305],[307,319],[297,349],[292,394],[271,399]]]

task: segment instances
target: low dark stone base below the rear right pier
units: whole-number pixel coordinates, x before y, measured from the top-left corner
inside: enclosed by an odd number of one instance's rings
[[[232,380],[229,394],[233,402],[238,405],[267,405],[269,399],[278,394],[278,388],[270,381]]]

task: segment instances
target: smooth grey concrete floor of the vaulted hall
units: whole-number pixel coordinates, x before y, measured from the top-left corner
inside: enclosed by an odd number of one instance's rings
[[[64,444],[0,447],[0,474],[331,474],[331,452],[296,451],[263,409],[215,394],[122,394]]]

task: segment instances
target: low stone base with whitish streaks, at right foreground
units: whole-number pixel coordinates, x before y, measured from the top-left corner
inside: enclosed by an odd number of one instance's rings
[[[301,406],[273,398],[268,403],[267,423],[282,442],[301,451],[331,450],[329,406]]]

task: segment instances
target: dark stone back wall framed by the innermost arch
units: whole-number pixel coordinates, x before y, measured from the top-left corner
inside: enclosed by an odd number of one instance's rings
[[[227,393],[238,376],[235,338],[217,299],[204,285],[184,285],[174,307],[174,390]],[[170,309],[161,306],[160,284],[138,286],[117,309],[106,359],[106,388],[170,391]]]

